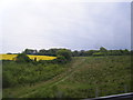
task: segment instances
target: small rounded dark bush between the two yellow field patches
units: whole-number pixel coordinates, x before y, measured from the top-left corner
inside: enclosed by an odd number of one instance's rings
[[[31,59],[25,53],[19,53],[16,58],[17,62],[30,62]]]

